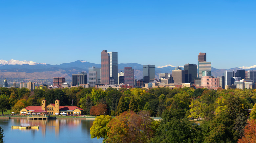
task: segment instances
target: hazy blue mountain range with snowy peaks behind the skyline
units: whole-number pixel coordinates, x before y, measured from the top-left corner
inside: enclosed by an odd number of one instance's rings
[[[191,63],[196,64],[196,63]],[[26,78],[28,80],[36,79],[53,79],[53,77],[64,77],[71,79],[73,73],[86,72],[89,67],[100,67],[100,64],[90,63],[85,60],[77,60],[71,63],[63,63],[60,65],[50,65],[46,63],[36,63],[32,61],[18,60],[0,60],[0,78]],[[134,69],[134,78],[143,78],[143,65],[138,63],[118,64],[118,72],[124,71],[124,67],[132,67]],[[155,77],[159,78],[159,73],[171,73],[176,66],[166,65],[155,68]],[[180,66],[183,67],[183,66]],[[182,68],[183,70],[183,68]],[[224,71],[237,70],[256,70],[256,65],[251,67],[240,67],[231,69],[216,69],[211,67],[212,76],[221,76]]]

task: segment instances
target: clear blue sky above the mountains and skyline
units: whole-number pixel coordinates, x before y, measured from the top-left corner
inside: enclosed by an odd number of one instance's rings
[[[118,63],[256,65],[256,1],[0,0],[0,59],[100,64],[102,50]]]

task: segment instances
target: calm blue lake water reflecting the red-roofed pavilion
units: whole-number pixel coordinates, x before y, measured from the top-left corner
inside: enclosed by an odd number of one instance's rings
[[[92,119],[0,119],[5,143],[102,143],[103,139],[91,138]],[[38,126],[39,129],[11,129],[11,125]]]

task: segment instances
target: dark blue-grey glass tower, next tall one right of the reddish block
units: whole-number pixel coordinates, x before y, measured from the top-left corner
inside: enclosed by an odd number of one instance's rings
[[[150,79],[155,78],[155,65],[144,65],[143,66],[143,80],[144,83],[149,83]]]

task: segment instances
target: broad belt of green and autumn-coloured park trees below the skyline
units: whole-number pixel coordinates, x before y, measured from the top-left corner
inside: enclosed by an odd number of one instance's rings
[[[208,90],[206,88],[158,87],[149,90],[145,88],[116,90],[110,87],[103,91],[95,88],[72,87],[30,91],[26,88],[0,87],[0,111],[2,113],[7,109],[19,113],[20,109],[26,106],[40,106],[43,99],[47,104],[60,100],[60,106],[81,107],[85,115],[117,116],[109,123],[114,121],[127,123],[123,124],[122,133],[125,134],[122,134],[122,137],[134,134],[140,138],[143,136],[145,142],[167,142],[169,140],[174,142],[182,142],[182,140],[183,142],[237,142],[245,137],[248,109],[252,109],[250,119],[256,118],[255,89]],[[152,121],[148,117],[161,117],[162,120]],[[191,118],[203,119],[203,122],[198,126],[188,120]],[[136,121],[138,119],[139,121]],[[143,125],[143,130],[141,125]],[[114,142],[115,138],[111,138],[111,132],[114,135],[114,132],[118,131],[118,129],[111,129],[114,126],[114,123],[106,126],[109,130],[104,131],[106,134],[100,137]],[[129,131],[135,127],[138,128],[136,133]],[[140,131],[143,131],[143,135],[139,134]]]

